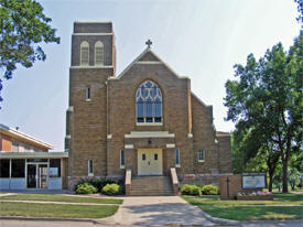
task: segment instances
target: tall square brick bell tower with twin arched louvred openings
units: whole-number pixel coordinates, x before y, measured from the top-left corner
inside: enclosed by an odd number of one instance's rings
[[[106,175],[107,79],[115,76],[111,22],[75,22],[65,149],[69,176]]]

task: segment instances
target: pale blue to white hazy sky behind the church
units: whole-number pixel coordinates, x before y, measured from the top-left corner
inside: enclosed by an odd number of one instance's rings
[[[217,130],[232,131],[224,118],[225,83],[235,79],[235,64],[261,57],[281,42],[285,50],[299,35],[293,0],[40,0],[52,18],[61,44],[43,44],[45,62],[21,66],[4,80],[0,123],[64,150],[68,108],[71,40],[74,21],[112,21],[117,75],[145,48],[174,72],[191,78],[191,86],[214,110]],[[2,74],[3,72],[1,72]]]

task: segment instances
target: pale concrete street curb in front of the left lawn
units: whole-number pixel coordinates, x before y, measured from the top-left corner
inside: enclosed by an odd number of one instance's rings
[[[46,221],[83,221],[98,224],[99,221],[90,218],[63,218],[63,217],[24,217],[24,216],[0,216],[1,220],[46,220]]]

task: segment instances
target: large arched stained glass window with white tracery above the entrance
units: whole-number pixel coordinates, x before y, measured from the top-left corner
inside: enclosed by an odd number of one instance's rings
[[[162,94],[158,85],[147,80],[136,93],[137,122],[162,122]]]

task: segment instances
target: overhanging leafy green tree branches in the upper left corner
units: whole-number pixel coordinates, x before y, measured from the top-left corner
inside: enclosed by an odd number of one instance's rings
[[[0,68],[6,79],[12,78],[18,64],[32,67],[35,61],[45,61],[46,55],[40,43],[59,43],[51,21],[34,0],[0,1]]]

